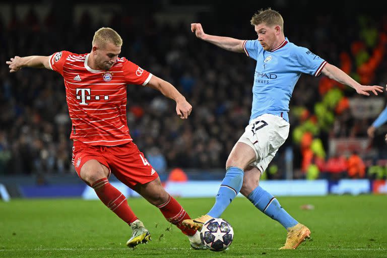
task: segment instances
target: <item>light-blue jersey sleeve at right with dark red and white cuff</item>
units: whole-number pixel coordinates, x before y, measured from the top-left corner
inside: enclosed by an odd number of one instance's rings
[[[309,49],[305,47],[295,46],[294,53],[294,65],[297,71],[312,75],[319,76],[322,69],[326,65],[327,61],[322,59],[316,54],[313,54]]]

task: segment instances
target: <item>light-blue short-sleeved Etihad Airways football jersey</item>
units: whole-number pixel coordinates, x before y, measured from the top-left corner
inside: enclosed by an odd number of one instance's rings
[[[256,60],[250,121],[266,113],[289,121],[290,97],[301,73],[317,77],[327,62],[287,38],[271,51],[264,50],[258,40],[244,41],[243,49]]]

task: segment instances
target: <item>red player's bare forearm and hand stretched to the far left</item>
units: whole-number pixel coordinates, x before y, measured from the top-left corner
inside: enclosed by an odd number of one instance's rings
[[[23,67],[50,69],[49,61],[49,56],[30,55],[25,57],[15,56],[10,61],[6,61],[6,63],[9,64],[10,73],[15,73]]]

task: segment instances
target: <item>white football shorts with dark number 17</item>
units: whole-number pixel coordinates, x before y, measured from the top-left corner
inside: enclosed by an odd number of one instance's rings
[[[251,120],[238,142],[250,146],[256,160],[249,164],[263,173],[289,135],[290,124],[282,117],[263,114]]]

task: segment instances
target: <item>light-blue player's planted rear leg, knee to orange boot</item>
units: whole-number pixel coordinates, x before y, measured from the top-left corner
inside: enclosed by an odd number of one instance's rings
[[[298,223],[280,205],[277,199],[259,186],[261,171],[248,166],[244,170],[243,185],[240,190],[257,209],[270,218],[278,221],[288,231],[286,243],[281,249],[295,249],[305,238],[309,238],[310,230]]]

